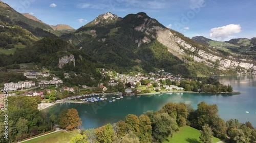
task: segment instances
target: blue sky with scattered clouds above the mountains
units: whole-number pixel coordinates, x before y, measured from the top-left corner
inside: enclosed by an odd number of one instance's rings
[[[47,24],[74,28],[111,12],[124,17],[145,12],[186,37],[212,40],[256,37],[254,0],[2,0],[20,13],[30,13]]]

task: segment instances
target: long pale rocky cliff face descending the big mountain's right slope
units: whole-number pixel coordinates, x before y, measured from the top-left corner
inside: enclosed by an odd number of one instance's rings
[[[168,48],[168,51],[173,53],[179,59],[182,60],[183,56],[189,56],[193,58],[195,62],[204,62],[207,65],[214,66],[214,62],[219,61],[220,69],[236,69],[237,67],[245,68],[246,70],[254,69],[254,73],[256,73],[256,65],[246,63],[246,60],[242,59],[242,62],[237,61],[232,56],[229,59],[223,59],[218,55],[214,54],[214,51],[208,53],[204,50],[198,49],[196,47],[191,46],[186,41],[174,35],[169,30],[158,30],[157,31],[157,40],[165,45]],[[189,52],[193,52],[190,54]]]

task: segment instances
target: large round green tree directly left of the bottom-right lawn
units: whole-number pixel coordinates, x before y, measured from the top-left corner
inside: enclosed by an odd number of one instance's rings
[[[173,136],[173,133],[178,129],[177,123],[170,118],[167,113],[158,113],[153,117],[152,130],[153,137],[161,142],[168,136]]]

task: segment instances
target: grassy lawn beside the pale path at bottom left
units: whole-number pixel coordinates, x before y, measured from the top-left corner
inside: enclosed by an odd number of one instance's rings
[[[78,134],[78,130],[74,130],[74,131],[59,131],[56,133],[52,133],[49,135],[45,135],[42,137],[38,137],[35,139],[31,139],[28,141],[25,141],[25,143],[66,143],[69,142],[71,140],[71,138]]]

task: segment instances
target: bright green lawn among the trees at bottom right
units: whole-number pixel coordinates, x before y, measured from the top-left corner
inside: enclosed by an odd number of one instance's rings
[[[200,132],[199,130],[185,126],[180,128],[180,130],[174,133],[173,138],[168,137],[164,143],[201,143],[200,139]],[[213,137],[214,142],[220,141],[219,138]]]

